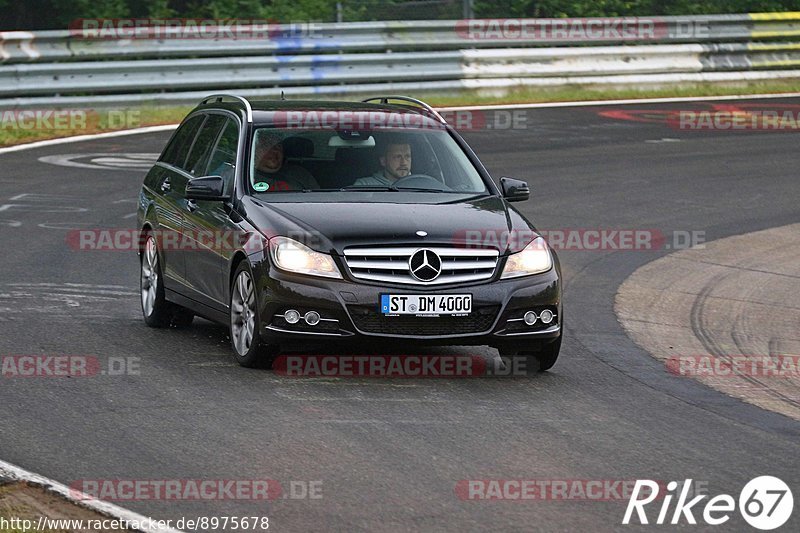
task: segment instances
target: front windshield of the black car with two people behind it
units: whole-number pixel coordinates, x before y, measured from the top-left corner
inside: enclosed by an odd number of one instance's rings
[[[256,194],[488,192],[475,166],[441,126],[361,131],[259,127],[253,136],[250,187]]]

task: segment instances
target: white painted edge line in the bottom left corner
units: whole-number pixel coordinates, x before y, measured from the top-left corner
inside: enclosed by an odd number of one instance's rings
[[[87,494],[62,485],[58,481],[40,476],[39,474],[34,474],[33,472],[28,472],[27,470],[12,465],[11,463],[6,463],[5,461],[0,461],[0,477],[39,485],[48,492],[58,494],[79,507],[90,509],[119,520],[126,520],[128,523],[134,522],[139,525],[139,528],[135,531],[142,531],[144,533],[182,533],[178,529],[158,527],[159,524],[157,521],[146,516],[134,513],[133,511],[129,511],[128,509],[124,509],[112,503],[95,500]],[[150,527],[151,524],[154,527]]]

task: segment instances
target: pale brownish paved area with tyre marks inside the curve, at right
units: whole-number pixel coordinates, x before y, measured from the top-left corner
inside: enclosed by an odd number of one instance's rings
[[[665,371],[800,420],[800,224],[672,253],[634,272],[615,311]]]

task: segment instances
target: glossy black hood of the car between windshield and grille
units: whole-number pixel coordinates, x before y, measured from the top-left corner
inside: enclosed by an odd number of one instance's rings
[[[306,193],[274,202],[246,197],[243,214],[269,238],[290,237],[337,255],[351,246],[387,245],[492,248],[504,254],[517,251],[516,240],[530,242],[535,232],[497,196],[454,199],[452,195],[382,193],[371,201],[354,201],[323,194]]]

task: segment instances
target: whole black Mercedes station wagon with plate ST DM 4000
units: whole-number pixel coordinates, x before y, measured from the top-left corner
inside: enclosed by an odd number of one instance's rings
[[[138,202],[148,326],[225,324],[237,361],[302,341],[488,345],[556,362],[558,257],[433,108],[203,100]]]

